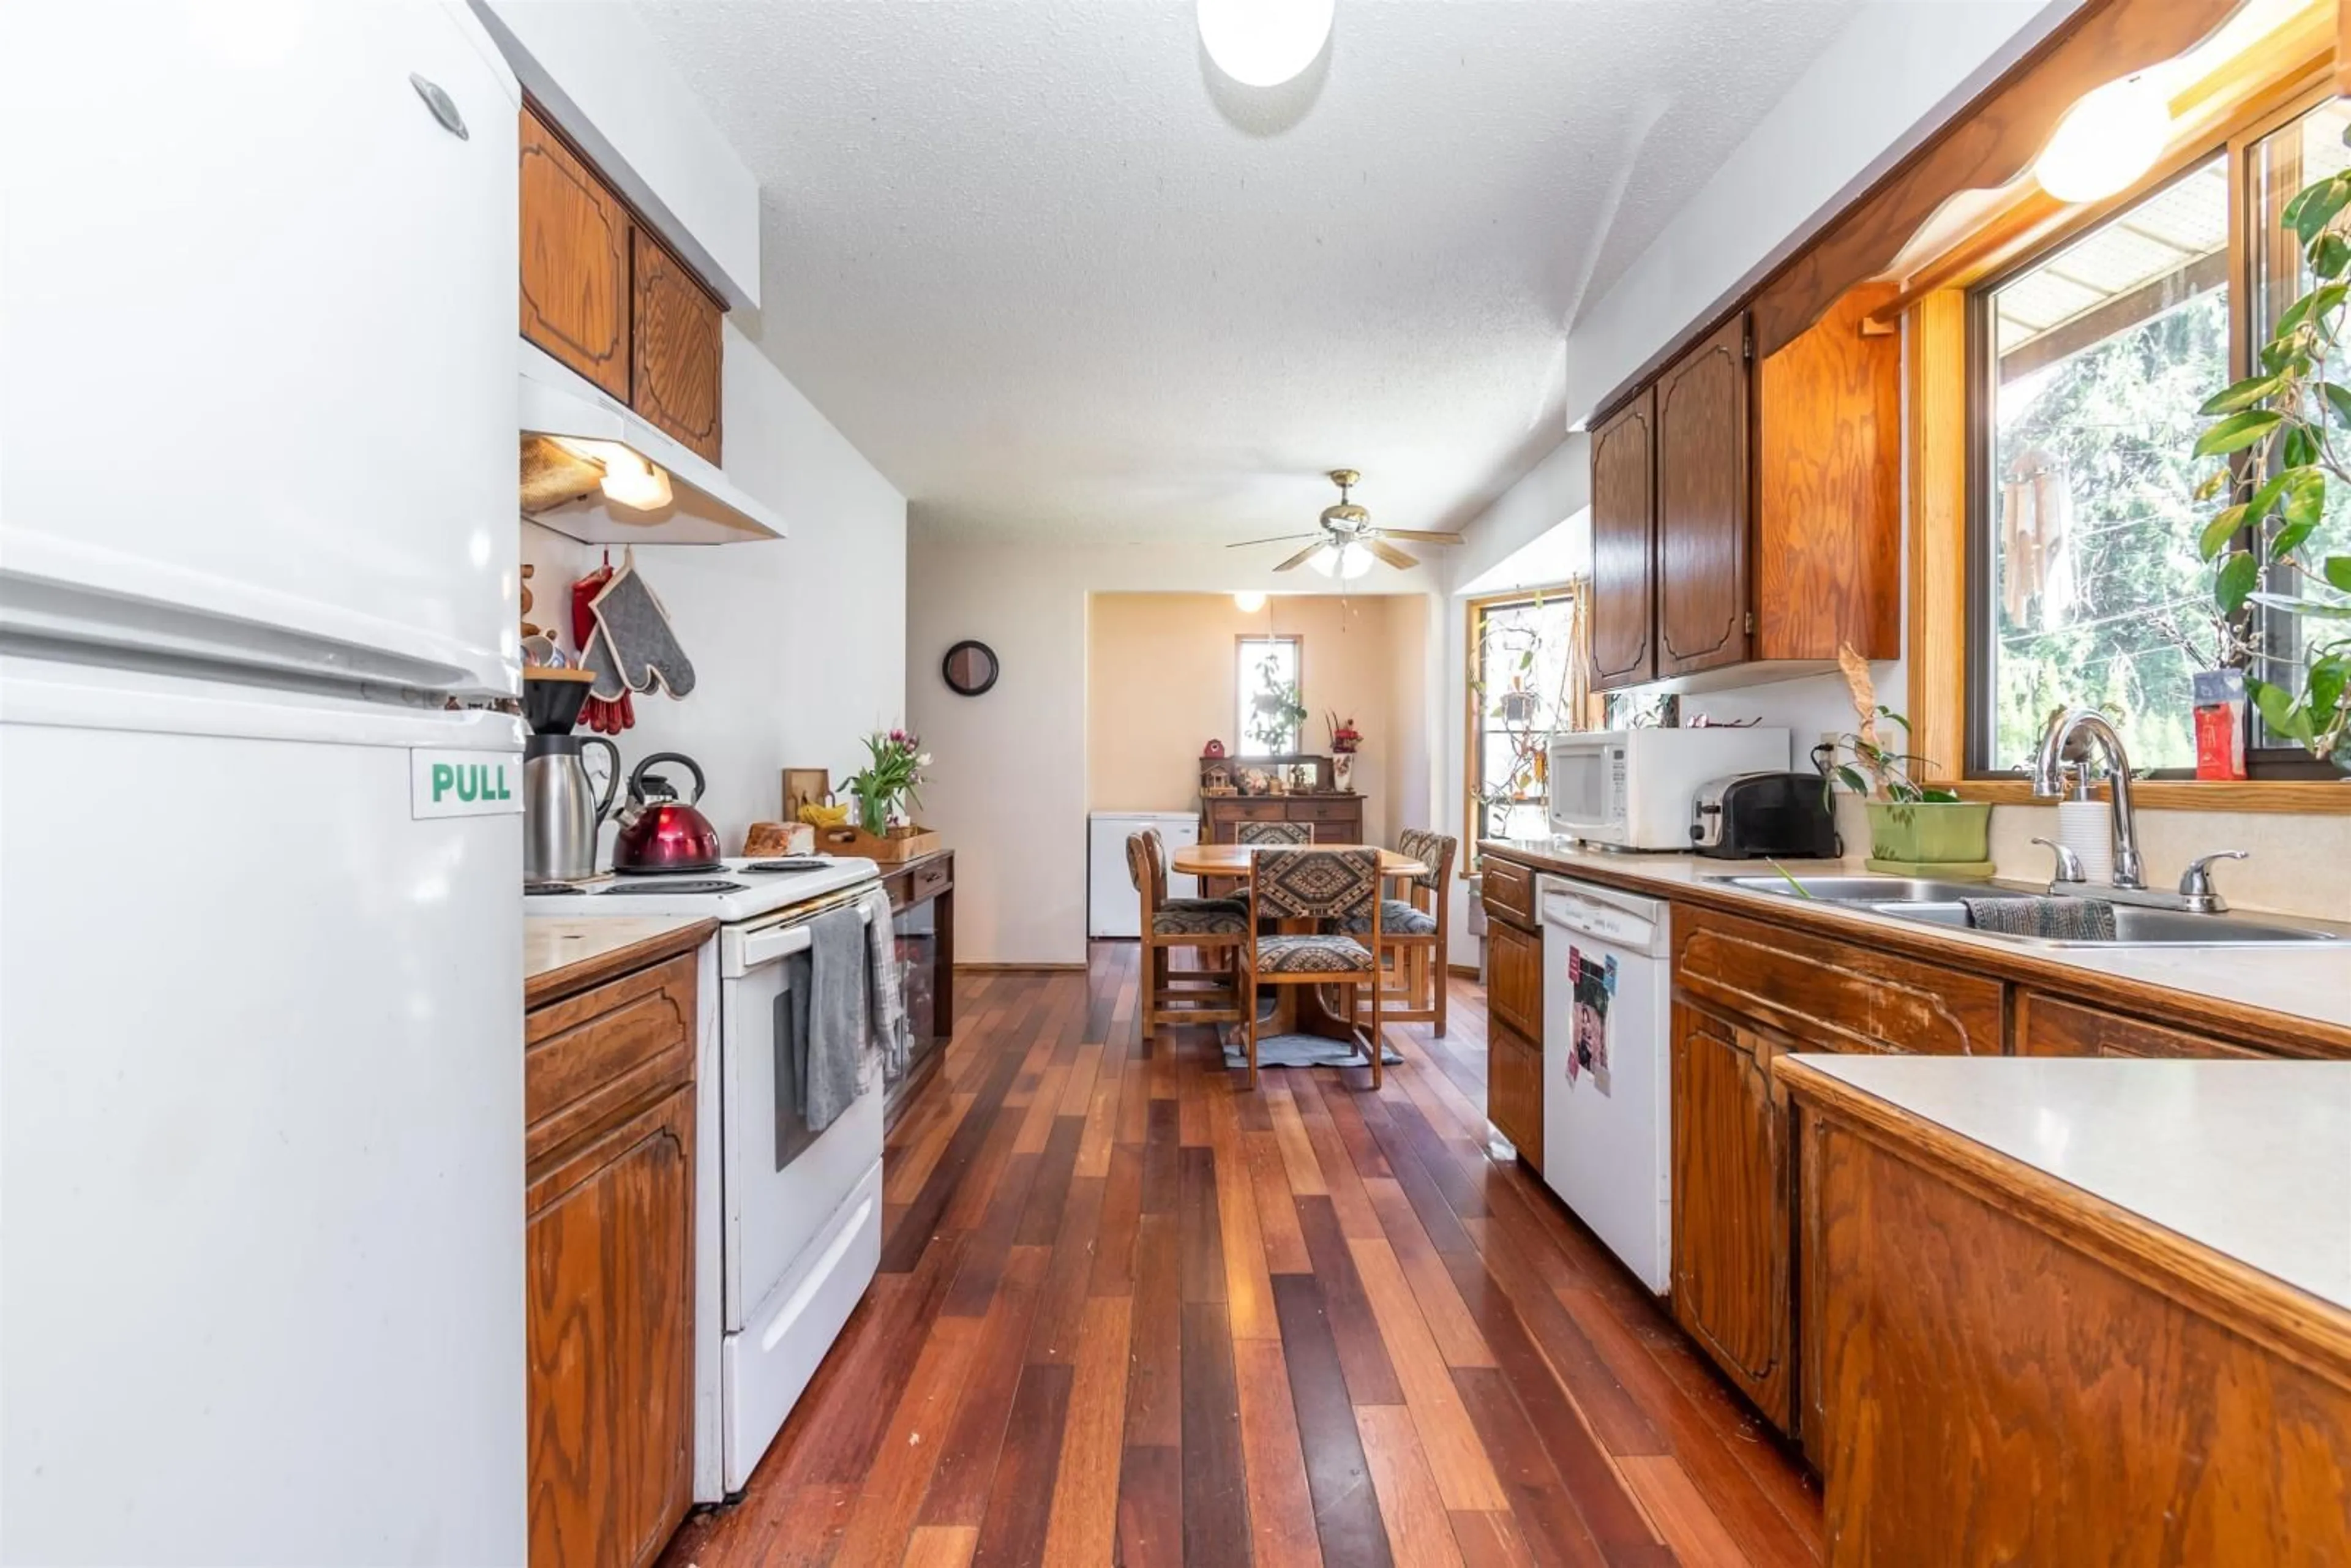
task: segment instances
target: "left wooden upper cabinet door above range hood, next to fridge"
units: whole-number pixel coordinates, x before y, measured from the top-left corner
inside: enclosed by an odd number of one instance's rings
[[[522,110],[522,336],[625,400],[628,207]]]

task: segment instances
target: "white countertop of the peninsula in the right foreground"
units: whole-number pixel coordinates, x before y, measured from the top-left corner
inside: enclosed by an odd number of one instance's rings
[[[1796,1060],[2351,1309],[2351,1063]]]

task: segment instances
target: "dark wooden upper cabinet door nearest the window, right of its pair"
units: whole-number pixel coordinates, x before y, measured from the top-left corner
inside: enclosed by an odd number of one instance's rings
[[[1655,395],[1657,675],[1695,675],[1747,658],[1747,317],[1669,364]]]

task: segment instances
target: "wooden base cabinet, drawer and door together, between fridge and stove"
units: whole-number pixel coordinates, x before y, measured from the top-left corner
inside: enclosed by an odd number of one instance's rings
[[[696,954],[524,1020],[531,1568],[639,1568],[694,1502]]]

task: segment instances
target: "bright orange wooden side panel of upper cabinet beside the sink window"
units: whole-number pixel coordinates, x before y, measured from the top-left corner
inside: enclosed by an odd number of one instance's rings
[[[1902,654],[1902,339],[1853,289],[1756,367],[1756,658]]]

